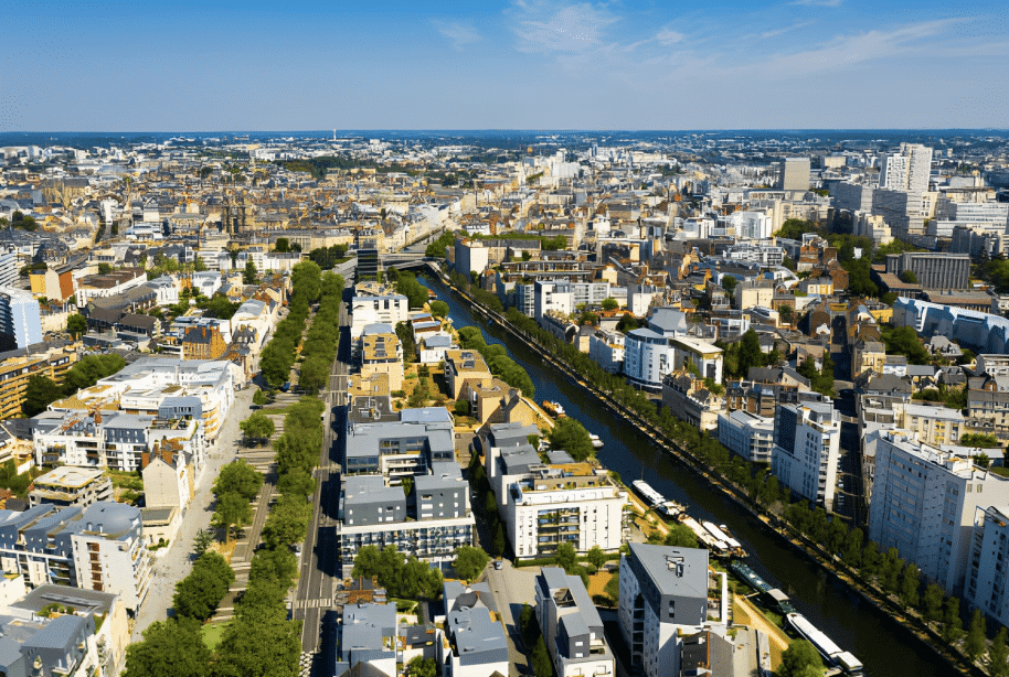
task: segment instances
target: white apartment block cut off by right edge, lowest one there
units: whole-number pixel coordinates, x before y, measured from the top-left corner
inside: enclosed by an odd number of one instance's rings
[[[1009,625],[1009,507],[975,509],[964,600]]]

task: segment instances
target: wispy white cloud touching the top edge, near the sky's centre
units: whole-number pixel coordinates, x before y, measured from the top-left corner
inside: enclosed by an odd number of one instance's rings
[[[532,10],[525,3],[517,7]],[[616,17],[592,4],[571,4],[549,17],[527,15],[514,32],[522,52],[584,54],[603,46],[603,31],[615,21]]]

